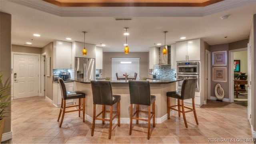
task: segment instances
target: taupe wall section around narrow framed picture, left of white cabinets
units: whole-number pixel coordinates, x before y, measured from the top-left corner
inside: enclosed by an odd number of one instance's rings
[[[51,57],[51,76],[46,76],[46,96],[52,100],[52,66],[53,66],[53,42],[50,42],[42,48],[42,53],[46,53],[46,58]]]

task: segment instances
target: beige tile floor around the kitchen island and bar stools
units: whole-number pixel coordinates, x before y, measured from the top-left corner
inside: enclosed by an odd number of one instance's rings
[[[15,99],[12,102],[13,143],[253,143],[247,108],[234,103],[208,100],[207,105],[196,108],[199,125],[192,112],[186,114],[188,128],[182,116],[171,116],[162,124],[156,124],[147,140],[147,124],[113,125],[111,140],[108,124],[96,124],[91,136],[91,123],[82,122],[77,112],[66,113],[62,128],[57,122],[59,108],[44,97]],[[219,140],[229,140],[222,142]],[[235,140],[235,141],[232,141]],[[209,141],[216,140],[216,142]]]

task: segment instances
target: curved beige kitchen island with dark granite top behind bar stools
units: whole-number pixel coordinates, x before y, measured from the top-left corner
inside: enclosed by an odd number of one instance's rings
[[[92,100],[92,89],[91,83],[86,80],[75,80],[69,79],[75,82],[75,90],[80,90],[86,94],[86,120],[92,122],[93,114],[93,100]],[[176,82],[182,79],[165,79],[165,80],[148,80],[150,82],[150,92],[152,95],[156,96],[156,123],[162,123],[167,120],[167,103],[166,103],[166,92],[176,90]],[[112,92],[113,94],[118,94],[121,96],[120,101],[120,122],[130,123],[130,92],[128,80],[112,80]],[[176,100],[174,98],[170,99],[170,104],[174,105]],[[96,105],[97,112],[100,112],[102,106]],[[108,106],[106,106],[108,109]],[[146,110],[147,106],[140,106],[141,109]],[[116,106],[114,106],[116,110]],[[171,111],[171,114],[173,111]],[[109,114],[106,114],[109,117]],[[145,114],[140,115],[141,118],[146,118]],[[100,123],[100,121],[96,121]]]

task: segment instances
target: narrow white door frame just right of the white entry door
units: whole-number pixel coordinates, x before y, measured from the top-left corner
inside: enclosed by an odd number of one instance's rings
[[[46,94],[46,68],[45,68],[45,64],[46,64],[46,52],[41,54],[41,75],[40,76],[41,76],[41,93],[42,93],[42,96],[45,96],[45,94]]]

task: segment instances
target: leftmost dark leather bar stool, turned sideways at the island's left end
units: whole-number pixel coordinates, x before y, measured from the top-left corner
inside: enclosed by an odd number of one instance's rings
[[[60,115],[62,113],[62,118],[61,118],[61,121],[60,121],[60,127],[62,125],[64,115],[67,112],[76,112],[76,111],[78,111],[78,116],[80,117],[80,112],[82,110],[83,111],[83,122],[84,122],[85,94],[83,92],[80,92],[80,91],[68,91],[67,92],[64,80],[62,78],[58,78],[58,82],[60,84],[60,91],[61,91],[61,106],[60,106],[60,114],[59,114],[59,117],[58,117],[58,121],[60,120]],[[66,100],[76,99],[76,98],[79,99],[78,104],[71,105],[71,106],[66,106]],[[83,101],[82,106],[81,106],[81,99]],[[66,108],[77,107],[77,106],[78,106],[78,109],[76,109],[76,110],[66,111]]]

